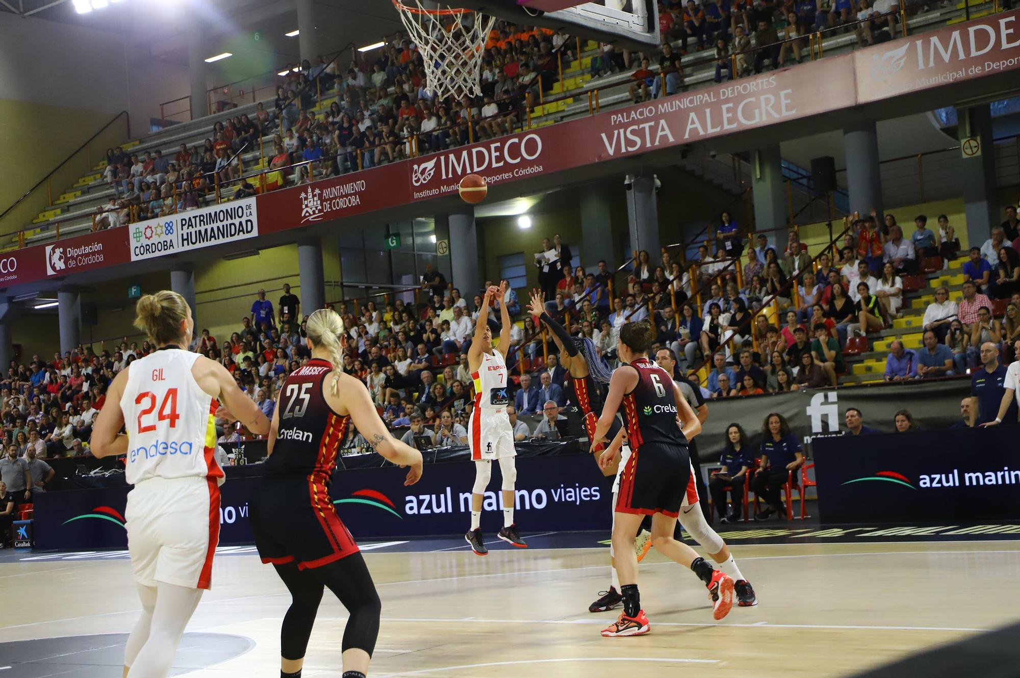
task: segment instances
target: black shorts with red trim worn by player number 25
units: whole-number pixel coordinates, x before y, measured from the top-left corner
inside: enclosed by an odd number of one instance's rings
[[[358,553],[320,479],[262,478],[249,504],[263,563],[297,563],[305,570]]]

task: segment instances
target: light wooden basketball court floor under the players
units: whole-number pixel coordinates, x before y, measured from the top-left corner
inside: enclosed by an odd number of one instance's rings
[[[603,638],[599,630],[615,613],[586,608],[608,585],[605,549],[487,558],[367,552],[382,598],[371,675],[846,676],[1020,618],[1018,541],[741,545],[734,555],[758,607],[734,607],[715,623],[704,586],[653,551],[641,566],[652,632]],[[275,573],[256,557],[217,558],[213,589],[189,630],[247,636],[255,646],[189,675],[275,675],[288,605]],[[138,599],[125,560],[3,563],[0,609],[0,642],[7,642],[123,633]],[[345,621],[327,592],[306,678],[339,675]]]

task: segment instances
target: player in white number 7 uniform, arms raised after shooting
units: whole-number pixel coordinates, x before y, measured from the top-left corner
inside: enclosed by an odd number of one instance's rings
[[[474,461],[474,487],[471,490],[471,529],[464,538],[471,544],[477,556],[489,553],[481,536],[481,506],[486,499],[486,487],[493,474],[493,460],[499,460],[503,475],[503,528],[499,537],[507,543],[526,549],[527,544],[517,534],[513,522],[514,487],[517,479],[517,451],[513,447],[513,428],[507,405],[510,390],[507,385],[506,352],[510,348],[510,313],[503,300],[510,283],[503,280],[500,286],[491,285],[486,290],[481,308],[489,307],[491,300],[499,295],[500,345],[493,348],[493,331],[484,321],[484,311],[478,316],[474,327],[471,348],[467,351],[467,367],[474,379],[474,408],[468,422],[468,447]]]

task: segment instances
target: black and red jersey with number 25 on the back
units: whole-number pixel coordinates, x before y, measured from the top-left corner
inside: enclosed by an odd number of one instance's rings
[[[279,423],[272,455],[262,464],[265,476],[315,476],[327,484],[337,465],[337,449],[350,417],[334,412],[322,393],[333,365],[312,358],[291,372],[280,387]]]

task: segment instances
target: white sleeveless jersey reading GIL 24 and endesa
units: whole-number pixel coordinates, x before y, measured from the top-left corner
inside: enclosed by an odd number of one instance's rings
[[[218,402],[192,375],[197,353],[163,349],[131,365],[120,410],[128,429],[125,480],[222,478],[216,462]]]

